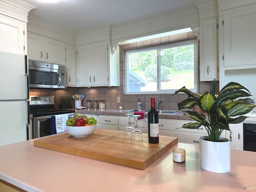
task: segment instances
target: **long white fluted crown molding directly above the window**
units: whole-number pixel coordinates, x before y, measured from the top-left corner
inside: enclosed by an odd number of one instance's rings
[[[112,27],[112,42],[199,26],[198,9],[190,6]]]

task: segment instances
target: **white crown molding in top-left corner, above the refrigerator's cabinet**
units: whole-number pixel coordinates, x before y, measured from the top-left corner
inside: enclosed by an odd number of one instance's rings
[[[28,22],[28,12],[35,9],[35,6],[24,3],[20,0],[1,0],[0,14]]]

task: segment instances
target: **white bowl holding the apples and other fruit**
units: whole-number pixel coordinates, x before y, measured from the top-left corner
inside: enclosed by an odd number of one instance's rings
[[[90,126],[66,126],[66,128],[73,137],[88,137],[95,131],[96,124]]]

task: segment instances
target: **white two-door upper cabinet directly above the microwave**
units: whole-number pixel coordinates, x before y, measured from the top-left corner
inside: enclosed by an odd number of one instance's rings
[[[28,32],[28,58],[65,65],[65,43]]]

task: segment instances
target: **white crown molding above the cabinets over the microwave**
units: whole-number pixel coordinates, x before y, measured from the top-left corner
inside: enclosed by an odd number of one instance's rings
[[[28,16],[27,30],[42,36],[76,45],[76,33],[32,16]]]

